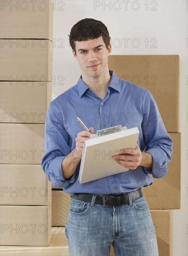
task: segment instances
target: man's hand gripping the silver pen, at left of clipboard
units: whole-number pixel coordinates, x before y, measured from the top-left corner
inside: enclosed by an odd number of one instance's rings
[[[93,134],[94,128],[90,127],[88,131],[79,132],[75,141],[76,141],[76,148],[74,150],[75,157],[79,160],[82,158],[82,152],[84,148],[84,141],[90,139],[91,134]]]

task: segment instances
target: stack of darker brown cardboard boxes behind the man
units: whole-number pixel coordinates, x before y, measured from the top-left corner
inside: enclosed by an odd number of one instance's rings
[[[111,55],[109,68],[119,78],[139,84],[153,94],[164,125],[173,140],[172,161],[168,164],[168,174],[160,179],[153,178],[153,185],[143,188],[154,222],[154,226],[148,227],[146,232],[156,232],[160,256],[171,255],[171,209],[180,209],[178,56]],[[65,226],[69,203],[70,195],[65,192],[59,190],[52,193],[52,226]]]

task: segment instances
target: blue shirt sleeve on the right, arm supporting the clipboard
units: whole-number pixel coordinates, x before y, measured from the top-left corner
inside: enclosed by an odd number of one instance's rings
[[[154,178],[160,178],[167,174],[167,163],[171,161],[172,140],[166,131],[156,101],[149,91],[142,130],[145,152],[149,152],[153,158],[152,168],[143,167],[143,171],[152,174]]]

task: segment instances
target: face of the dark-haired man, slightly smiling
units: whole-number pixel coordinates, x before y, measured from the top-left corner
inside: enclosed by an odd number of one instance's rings
[[[87,41],[76,41],[76,53],[72,50],[84,78],[103,76],[108,71],[108,56],[111,53],[111,45],[104,44],[102,36]]]

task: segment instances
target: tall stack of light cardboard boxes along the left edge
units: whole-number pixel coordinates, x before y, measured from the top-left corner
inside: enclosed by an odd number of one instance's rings
[[[1,245],[48,246],[52,185],[40,163],[51,101],[49,0],[2,1],[0,8]]]

